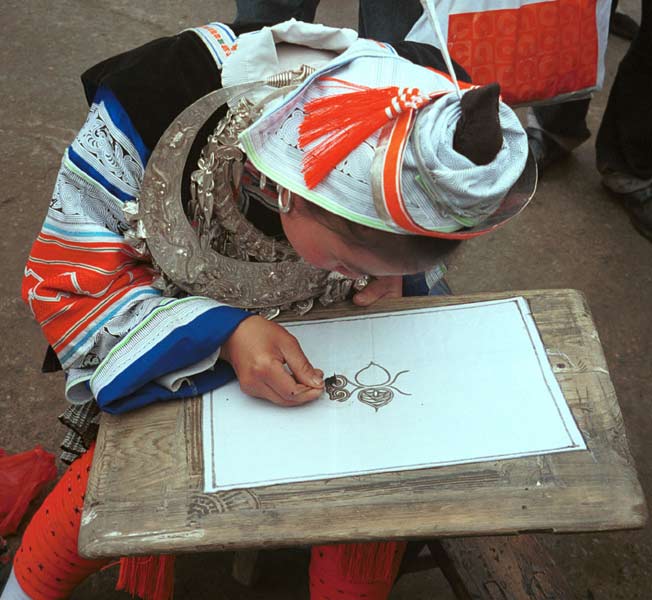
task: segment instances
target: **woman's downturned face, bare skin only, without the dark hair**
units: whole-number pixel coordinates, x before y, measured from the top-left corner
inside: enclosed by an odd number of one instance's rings
[[[424,261],[410,257],[407,236],[392,236],[395,247],[389,251],[369,249],[352,244],[314,218],[304,208],[307,202],[301,197],[292,197],[293,207],[287,214],[281,214],[285,235],[297,253],[308,263],[321,269],[337,271],[346,277],[361,275],[405,275],[418,273],[432,266],[420,264]],[[403,251],[402,251],[403,250]],[[407,257],[407,258],[406,258]]]

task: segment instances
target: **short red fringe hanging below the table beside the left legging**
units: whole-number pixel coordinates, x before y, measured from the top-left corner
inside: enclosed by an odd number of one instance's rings
[[[172,600],[174,560],[172,555],[121,558],[115,589],[143,600]]]

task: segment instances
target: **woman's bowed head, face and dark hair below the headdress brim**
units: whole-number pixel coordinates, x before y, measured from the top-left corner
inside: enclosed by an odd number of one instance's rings
[[[289,242],[305,261],[349,277],[426,271],[459,244],[365,227],[295,195],[281,221]]]

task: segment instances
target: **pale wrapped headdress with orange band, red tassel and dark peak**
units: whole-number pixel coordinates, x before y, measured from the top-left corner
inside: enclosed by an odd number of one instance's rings
[[[409,237],[473,237],[518,213],[534,189],[510,194],[527,136],[498,86],[460,100],[444,73],[361,44],[242,132],[256,169],[331,213]]]

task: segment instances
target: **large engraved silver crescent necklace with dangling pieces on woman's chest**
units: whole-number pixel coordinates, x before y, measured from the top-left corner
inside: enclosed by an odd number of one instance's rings
[[[354,287],[366,284],[366,279],[351,280],[305,263],[287,242],[265,236],[239,211],[246,156],[238,135],[259,116],[261,105],[241,99],[220,120],[191,176],[188,215],[181,202],[190,149],[210,116],[257,88],[294,87],[312,71],[304,65],[265,81],[207,94],[184,110],[161,137],[145,170],[138,205],[129,203],[125,213],[132,224],[126,237],[136,247],[145,242],[161,274],[157,286],[167,295],[208,296],[273,318],[290,308],[304,314],[314,299],[322,304],[343,300]]]

